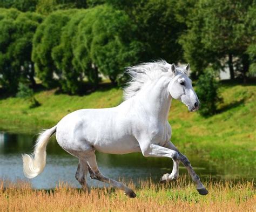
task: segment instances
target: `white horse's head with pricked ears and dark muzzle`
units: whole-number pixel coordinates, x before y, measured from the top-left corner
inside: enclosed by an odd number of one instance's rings
[[[172,64],[170,71],[173,72],[174,77],[169,83],[168,90],[173,99],[179,99],[187,106],[188,111],[192,112],[199,109],[200,102],[192,87],[192,81],[188,78],[189,69],[189,64],[185,68]]]

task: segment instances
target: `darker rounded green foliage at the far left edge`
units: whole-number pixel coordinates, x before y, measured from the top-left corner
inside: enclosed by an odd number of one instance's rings
[[[32,38],[42,20],[37,13],[1,9],[0,83],[9,91],[15,92],[21,80],[29,80],[32,86],[36,84],[31,61]]]

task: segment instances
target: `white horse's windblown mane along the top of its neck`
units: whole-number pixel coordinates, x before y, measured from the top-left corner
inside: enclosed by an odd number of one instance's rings
[[[151,63],[142,63],[137,66],[130,66],[126,69],[131,80],[124,88],[124,99],[127,100],[141,90],[143,85],[149,80],[158,80],[163,73],[170,69],[171,65],[165,60],[153,61]],[[170,71],[170,76],[172,76]]]

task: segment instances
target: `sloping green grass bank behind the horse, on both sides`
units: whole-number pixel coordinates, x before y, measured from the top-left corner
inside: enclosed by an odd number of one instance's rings
[[[230,82],[221,83],[224,101],[218,113],[203,118],[190,113],[185,105],[172,101],[169,121],[172,141],[185,154],[200,154],[220,168],[239,166],[255,173],[256,86]],[[41,106],[30,108],[21,98],[0,100],[0,129],[9,132],[37,133],[39,129],[57,124],[64,115],[80,108],[113,107],[122,102],[120,88],[100,88],[84,96],[58,94],[56,90],[35,94]]]

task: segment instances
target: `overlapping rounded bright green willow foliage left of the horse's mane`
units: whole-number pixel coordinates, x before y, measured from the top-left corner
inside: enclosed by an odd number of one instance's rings
[[[138,61],[142,45],[132,39],[135,28],[123,11],[108,5],[53,12],[33,39],[37,76],[49,87],[55,74],[62,90],[72,94],[84,76],[97,85],[98,70],[116,83],[123,68]]]

